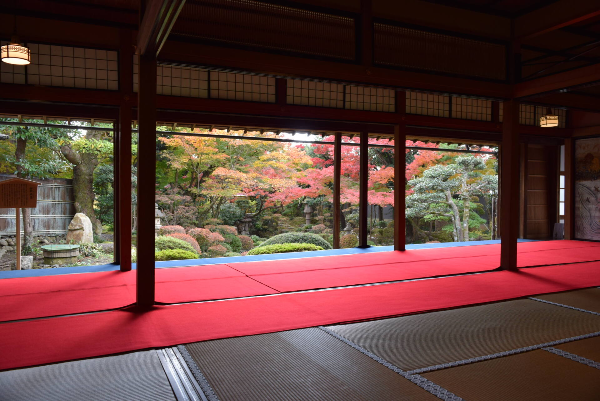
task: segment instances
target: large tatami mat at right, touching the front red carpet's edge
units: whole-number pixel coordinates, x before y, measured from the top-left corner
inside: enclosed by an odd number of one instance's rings
[[[328,327],[403,370],[600,330],[600,316],[514,300]]]

